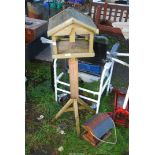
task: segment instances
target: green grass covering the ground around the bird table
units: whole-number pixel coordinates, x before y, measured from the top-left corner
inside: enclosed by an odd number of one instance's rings
[[[26,155],[31,155],[36,151],[42,152],[42,155],[69,155],[69,153],[125,155],[128,152],[129,130],[126,128],[117,127],[118,142],[116,145],[100,144],[97,147],[93,147],[83,138],[77,137],[72,113],[65,113],[57,121],[51,122],[51,119],[60,110],[61,105],[54,100],[54,92],[51,89],[50,81],[50,66],[45,63],[27,63],[26,70],[28,78]],[[89,84],[85,85],[85,87],[92,88],[94,85],[97,87],[97,84]],[[113,94],[102,97],[100,112],[113,111],[113,98]],[[36,118],[40,115],[44,115],[44,119],[38,121]],[[91,117],[92,114],[87,111],[80,111],[81,124]],[[66,134],[61,135],[58,133],[58,127],[63,129]],[[60,146],[64,148],[61,153],[58,152]]]

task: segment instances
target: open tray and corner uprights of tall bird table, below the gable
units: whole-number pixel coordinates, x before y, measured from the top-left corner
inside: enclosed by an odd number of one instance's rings
[[[56,41],[56,45],[53,45],[53,58],[82,58],[95,56],[93,50],[94,34],[87,36],[88,40],[75,39],[75,42],[70,42],[69,38],[57,39],[53,36],[53,41]]]

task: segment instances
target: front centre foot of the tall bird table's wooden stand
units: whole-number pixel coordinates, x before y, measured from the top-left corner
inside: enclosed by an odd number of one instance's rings
[[[80,121],[79,121],[77,99],[74,99],[74,114],[75,114],[75,121],[76,121],[76,131],[77,131],[77,135],[79,136],[80,135]]]

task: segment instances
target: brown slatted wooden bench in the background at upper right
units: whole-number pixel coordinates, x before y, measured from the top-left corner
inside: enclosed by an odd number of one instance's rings
[[[100,33],[115,33],[121,34],[119,28],[112,27],[113,22],[128,22],[129,21],[129,6],[109,3],[92,3],[89,14],[94,20]]]

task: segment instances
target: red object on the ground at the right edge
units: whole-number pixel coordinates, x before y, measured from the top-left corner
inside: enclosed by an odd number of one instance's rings
[[[114,114],[113,119],[117,125],[129,127],[129,101],[126,109],[123,109],[123,103],[125,100],[126,93],[119,90],[114,90]]]

